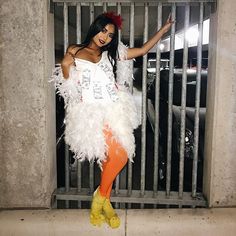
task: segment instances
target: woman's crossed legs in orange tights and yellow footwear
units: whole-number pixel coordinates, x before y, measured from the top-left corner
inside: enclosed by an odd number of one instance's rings
[[[110,194],[113,181],[127,163],[128,157],[110,130],[104,130],[104,135],[108,146],[107,160],[102,166],[100,186],[93,195],[90,222],[93,225],[101,225],[106,220],[112,228],[117,228],[120,225],[120,219],[112,208]]]

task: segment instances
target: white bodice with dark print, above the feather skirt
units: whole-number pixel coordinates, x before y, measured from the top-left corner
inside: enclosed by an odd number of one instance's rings
[[[82,102],[109,103],[118,100],[113,68],[107,52],[102,53],[97,63],[76,58],[75,66]]]

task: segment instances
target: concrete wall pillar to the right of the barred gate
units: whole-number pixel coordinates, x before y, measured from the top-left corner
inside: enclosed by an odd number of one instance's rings
[[[236,1],[211,17],[204,192],[209,206],[236,206]]]

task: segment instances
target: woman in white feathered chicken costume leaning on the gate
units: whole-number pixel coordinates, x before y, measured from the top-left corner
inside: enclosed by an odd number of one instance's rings
[[[111,228],[120,225],[110,203],[112,184],[134,156],[133,130],[139,125],[126,88],[132,79],[126,62],[145,55],[173,21],[169,17],[140,48],[127,48],[118,42],[121,23],[121,17],[112,12],[99,15],[85,41],[68,47],[61,68],[54,73],[56,88],[65,101],[66,143],[75,158],[97,160],[102,170],[100,185],[93,194],[90,222],[100,226],[106,221]]]

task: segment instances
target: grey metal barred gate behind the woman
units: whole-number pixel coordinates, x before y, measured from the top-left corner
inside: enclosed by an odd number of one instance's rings
[[[173,24],[170,34],[157,44],[152,51],[153,57],[145,55],[139,64],[141,68],[142,87],[141,92],[141,119],[142,125],[136,131],[137,157],[134,163],[128,163],[121,174],[116,178],[115,187],[112,191],[111,201],[116,203],[116,207],[162,207],[162,206],[206,206],[206,200],[198,189],[198,181],[202,181],[202,173],[199,173],[199,165],[203,165],[203,159],[199,160],[199,144],[202,142],[200,133],[201,115],[204,116],[206,107],[201,107],[202,91],[201,82],[204,77],[203,68],[203,26],[207,15],[210,15],[214,0],[158,0],[158,1],[77,1],[77,0],[53,0],[51,9],[54,6],[63,12],[64,46],[66,51],[69,42],[81,43],[83,39],[83,25],[89,20],[91,23],[96,15],[104,11],[116,11],[126,17],[125,26],[119,32],[119,39],[125,41],[130,47],[139,45],[140,38],[137,38],[135,26],[137,24],[137,11],[142,12],[141,28],[143,28],[142,40],[149,38],[150,28],[158,30],[163,24],[163,18],[167,17],[166,12],[171,12],[172,18],[181,18],[179,24]],[[73,16],[70,16],[73,11]],[[184,12],[184,16],[180,12]],[[86,12],[88,14],[86,14]],[[150,25],[150,19],[155,18],[155,24]],[[196,15],[197,20],[192,20]],[[124,18],[123,16],[123,18]],[[71,18],[75,18],[75,24],[71,23]],[[181,23],[183,25],[181,26]],[[195,58],[189,61],[189,51],[191,45],[186,38],[187,31],[194,23],[197,24],[198,42],[195,46]],[[126,27],[126,28],[125,28]],[[140,27],[140,26],[139,26]],[[177,28],[176,28],[177,27]],[[63,31],[61,27],[61,31]],[[180,50],[181,68],[176,69],[176,36],[181,35],[183,28],[183,42]],[[73,31],[73,32],[72,32]],[[129,34],[125,37],[123,31]],[[75,40],[70,39],[72,34]],[[72,42],[73,41],[73,42]],[[166,49],[163,49],[163,46]],[[163,59],[163,56],[165,57]],[[193,61],[196,61],[194,64]],[[163,69],[162,62],[168,62]],[[154,63],[154,66],[151,64]],[[195,65],[195,67],[193,67]],[[191,66],[191,68],[189,68]],[[167,68],[166,68],[167,67]],[[154,73],[150,72],[154,69]],[[191,80],[191,69],[195,71]],[[162,73],[163,71],[163,73]],[[135,73],[134,73],[135,77]],[[190,77],[190,80],[189,80]],[[164,79],[163,79],[164,78]],[[162,103],[162,80],[167,82],[167,96],[165,104]],[[155,81],[155,82],[154,82]],[[176,82],[177,81],[177,82]],[[175,84],[181,81],[181,93],[177,96],[180,101],[175,104]],[[189,84],[195,84],[194,105],[188,106],[188,95],[192,90],[188,90]],[[152,90],[154,97],[149,94]],[[136,95],[137,95],[136,94]],[[138,96],[138,95],[137,95]],[[186,105],[187,104],[187,105]],[[163,110],[161,107],[163,105]],[[166,112],[165,112],[166,111]],[[162,118],[162,120],[160,119]],[[191,119],[190,119],[190,118]],[[204,119],[203,119],[204,120]],[[191,122],[192,123],[191,123]],[[164,122],[164,123],[162,123]],[[191,127],[188,124],[191,123]],[[166,129],[163,127],[166,125]],[[203,121],[204,125],[204,121]],[[140,137],[140,139],[139,139]],[[161,139],[164,139],[161,140]],[[152,144],[151,144],[152,143]],[[190,144],[189,144],[190,143]],[[173,147],[174,146],[174,147]],[[150,151],[151,150],[151,151]],[[173,153],[174,152],[174,153]],[[65,185],[58,187],[53,193],[53,207],[59,207],[58,203],[63,201],[63,207],[81,208],[86,207],[92,198],[92,193],[99,183],[99,170],[94,163],[80,163],[72,158],[65,146],[65,168],[58,170],[58,175],[65,175]],[[178,163],[177,167],[173,166]],[[186,167],[188,165],[188,167]],[[190,167],[189,167],[190,166]],[[188,168],[188,169],[186,169]],[[175,170],[176,169],[176,170]],[[191,170],[189,170],[191,169]],[[191,172],[187,176],[187,172]],[[191,176],[191,179],[186,178]],[[200,180],[199,180],[200,179]],[[173,181],[175,180],[175,181]],[[191,187],[185,189],[185,182],[188,181]],[[201,185],[201,184],[200,184]]]

